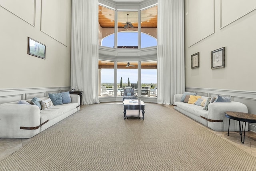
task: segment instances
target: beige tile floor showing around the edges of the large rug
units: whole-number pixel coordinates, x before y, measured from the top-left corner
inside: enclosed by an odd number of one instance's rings
[[[122,102],[113,102],[108,104],[122,104]],[[81,106],[82,109],[83,106]],[[171,105],[166,105],[166,107],[173,108]],[[190,119],[187,117],[187,119]],[[213,131],[208,127],[198,123],[199,126],[205,127],[212,133],[218,135],[219,137],[225,139],[226,141],[232,143],[233,145],[239,147],[240,149],[250,153],[256,157],[256,133],[252,131],[246,131],[244,144],[241,143],[241,138],[239,132],[230,131],[230,136],[228,136],[227,131]],[[29,138],[0,138],[0,161],[7,157],[8,155],[14,153],[14,151],[22,148],[26,144],[30,143],[36,139],[40,134]]]

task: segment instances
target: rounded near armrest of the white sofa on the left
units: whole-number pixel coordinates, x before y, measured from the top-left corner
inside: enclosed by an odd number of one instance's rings
[[[0,105],[0,138],[30,138],[40,129],[20,129],[20,127],[38,127],[40,109],[36,105],[2,104]]]

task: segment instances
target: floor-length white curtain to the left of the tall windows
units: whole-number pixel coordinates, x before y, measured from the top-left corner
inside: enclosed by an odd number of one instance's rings
[[[72,0],[71,86],[83,91],[82,104],[98,99],[98,0]]]

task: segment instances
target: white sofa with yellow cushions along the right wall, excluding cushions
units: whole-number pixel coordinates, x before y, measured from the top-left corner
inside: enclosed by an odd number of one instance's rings
[[[180,111],[184,115],[202,123],[203,125],[213,129],[214,131],[228,131],[229,118],[225,116],[226,111],[238,111],[248,113],[246,105],[240,102],[214,102],[208,105],[208,110],[204,107],[188,104],[180,101],[182,94],[174,95],[174,109]],[[201,96],[202,99],[208,97]],[[239,121],[230,119],[230,131],[239,131]],[[248,123],[246,123],[246,131],[248,131]]]

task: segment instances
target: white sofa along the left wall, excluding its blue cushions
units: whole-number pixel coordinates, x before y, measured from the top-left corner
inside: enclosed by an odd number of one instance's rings
[[[40,110],[36,105],[17,104],[18,101],[0,105],[0,138],[31,138],[62,119],[80,110],[80,96],[70,94],[71,103],[54,105]],[[40,97],[40,100],[49,97]],[[26,101],[30,101],[27,99]]]

